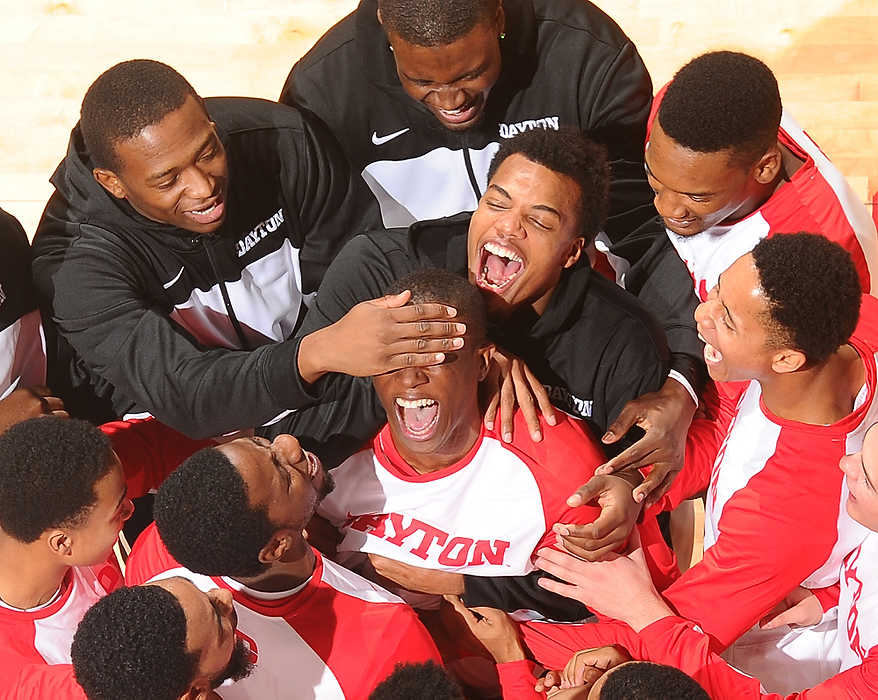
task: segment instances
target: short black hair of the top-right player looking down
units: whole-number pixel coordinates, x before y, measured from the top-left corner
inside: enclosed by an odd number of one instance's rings
[[[658,109],[662,130],[699,153],[728,149],[735,162],[755,163],[777,141],[780,90],[762,61],[713,51],[683,66]]]

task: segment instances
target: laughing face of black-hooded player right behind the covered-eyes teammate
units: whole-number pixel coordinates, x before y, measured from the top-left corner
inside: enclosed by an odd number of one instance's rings
[[[561,271],[582,253],[579,198],[573,180],[521,154],[500,164],[467,238],[470,282],[489,292],[492,312],[543,313]]]

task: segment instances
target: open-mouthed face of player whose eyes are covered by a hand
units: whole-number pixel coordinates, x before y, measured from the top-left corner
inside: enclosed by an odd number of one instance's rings
[[[372,379],[394,445],[419,471],[454,464],[479,436],[478,385],[487,374],[492,346],[473,347],[469,332],[465,339],[441,365],[406,367]]]

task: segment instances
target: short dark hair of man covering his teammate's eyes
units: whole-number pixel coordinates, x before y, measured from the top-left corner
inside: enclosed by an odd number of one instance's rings
[[[116,144],[157,124],[190,95],[201,102],[186,78],[159,61],[124,61],[101,73],[85,93],[79,119],[92,164],[118,170]]]

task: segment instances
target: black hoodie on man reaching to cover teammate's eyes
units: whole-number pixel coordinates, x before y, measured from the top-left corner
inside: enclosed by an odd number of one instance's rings
[[[360,224],[321,126],[265,100],[208,98],[226,149],[218,231],[151,221],[106,192],[77,125],[34,239],[34,280],[60,337],[53,386],[102,419],[148,412],[192,437],[309,402],[290,339]],[[290,339],[290,340],[288,340]]]

